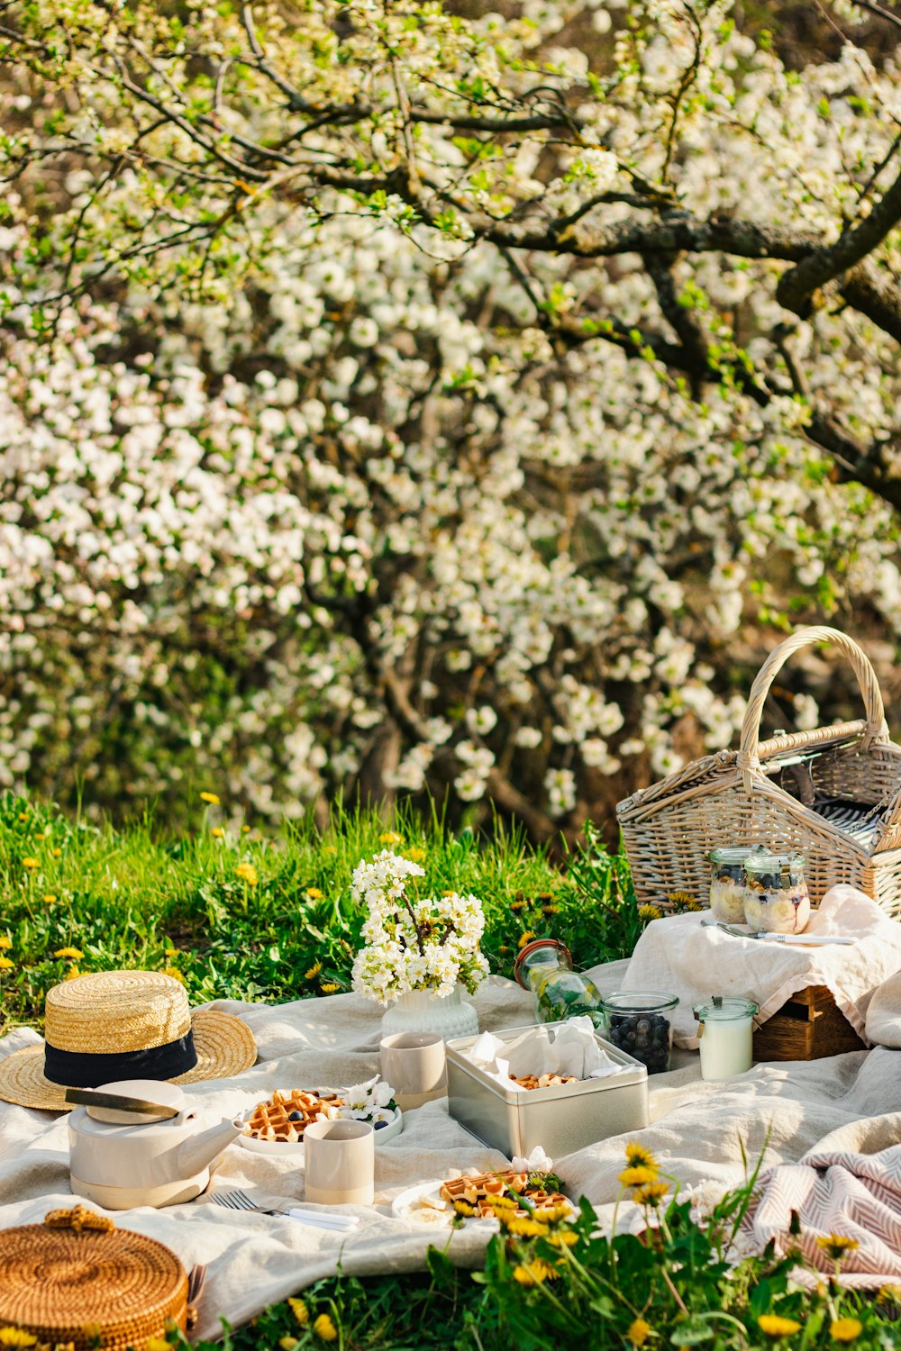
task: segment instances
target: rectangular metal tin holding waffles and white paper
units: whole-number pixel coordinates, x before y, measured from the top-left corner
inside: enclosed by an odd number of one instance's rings
[[[548,1031],[565,1025],[544,1024]],[[508,1027],[493,1035],[512,1042],[525,1031],[525,1027]],[[450,1115],[484,1144],[500,1150],[508,1159],[515,1155],[528,1158],[539,1144],[552,1159],[559,1159],[586,1144],[594,1144],[596,1140],[605,1140],[609,1135],[640,1131],[648,1120],[647,1070],[639,1061],[594,1035],[609,1058],[627,1065],[628,1070],[602,1079],[584,1079],[577,1085],[528,1092],[505,1089],[466,1059],[477,1036],[448,1042]]]

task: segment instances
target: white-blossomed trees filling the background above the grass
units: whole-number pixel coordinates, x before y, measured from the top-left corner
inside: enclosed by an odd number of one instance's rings
[[[0,780],[546,836],[728,743],[773,624],[894,642],[859,12],[796,72],[727,0],[7,4]]]

